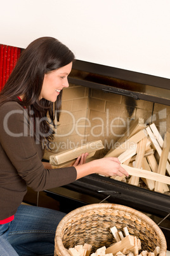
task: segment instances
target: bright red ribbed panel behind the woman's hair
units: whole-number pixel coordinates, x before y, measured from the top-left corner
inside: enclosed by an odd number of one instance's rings
[[[20,48],[0,44],[0,91],[13,71],[20,52]]]

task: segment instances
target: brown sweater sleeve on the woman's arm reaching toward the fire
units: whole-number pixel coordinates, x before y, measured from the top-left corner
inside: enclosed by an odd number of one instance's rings
[[[27,186],[36,191],[60,187],[76,180],[75,167],[44,169],[37,153],[27,110],[18,103],[0,108],[0,143],[9,161]],[[39,145],[40,146],[40,145]]]

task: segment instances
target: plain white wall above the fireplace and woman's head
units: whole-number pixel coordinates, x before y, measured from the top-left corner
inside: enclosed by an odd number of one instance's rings
[[[169,0],[7,0],[0,43],[25,48],[41,36],[76,59],[170,78]]]

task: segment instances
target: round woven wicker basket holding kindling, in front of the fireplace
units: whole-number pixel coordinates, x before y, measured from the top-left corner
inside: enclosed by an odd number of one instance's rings
[[[68,213],[58,224],[55,235],[55,256],[70,256],[67,249],[75,245],[92,245],[92,252],[102,246],[110,246],[115,239],[110,227],[116,226],[123,232],[141,240],[142,250],[154,252],[160,247],[159,256],[165,256],[166,239],[160,228],[147,215],[120,204],[89,204]]]

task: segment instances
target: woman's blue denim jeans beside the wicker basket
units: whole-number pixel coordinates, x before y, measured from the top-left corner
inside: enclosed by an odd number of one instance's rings
[[[55,231],[65,213],[20,205],[15,219],[0,225],[0,255],[54,255]]]

